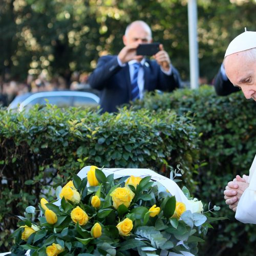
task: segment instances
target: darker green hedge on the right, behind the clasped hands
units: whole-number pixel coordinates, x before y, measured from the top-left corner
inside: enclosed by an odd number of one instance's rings
[[[217,96],[214,88],[177,90],[172,94],[148,94],[133,109],[151,111],[175,110],[193,118],[200,134],[198,197],[222,206],[219,216],[227,221],[207,233],[201,255],[253,255],[256,240],[255,225],[244,225],[234,219],[225,205],[223,190],[236,174],[249,174],[256,150],[255,101],[245,99],[242,92],[226,97]]]

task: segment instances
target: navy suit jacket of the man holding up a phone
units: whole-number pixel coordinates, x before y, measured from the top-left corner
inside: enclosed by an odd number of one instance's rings
[[[179,72],[172,67],[172,74],[165,75],[155,60],[146,60],[144,69],[145,91],[173,91],[180,87]],[[99,58],[98,65],[89,77],[90,86],[101,91],[102,112],[116,112],[116,107],[129,103],[131,98],[131,79],[129,65],[118,65],[117,56],[107,55]]]

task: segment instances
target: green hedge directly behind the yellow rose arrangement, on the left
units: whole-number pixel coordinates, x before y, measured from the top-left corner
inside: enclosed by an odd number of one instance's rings
[[[0,119],[2,251],[9,247],[15,215],[35,205],[47,185],[63,185],[86,165],[150,168],[168,176],[180,164],[186,186],[194,188],[198,134],[189,118],[172,111],[123,109],[99,115],[49,105],[29,113],[2,109]]]

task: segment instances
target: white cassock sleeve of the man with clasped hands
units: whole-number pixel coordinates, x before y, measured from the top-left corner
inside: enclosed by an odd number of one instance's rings
[[[250,168],[249,186],[241,196],[235,218],[243,223],[256,224],[256,156]]]

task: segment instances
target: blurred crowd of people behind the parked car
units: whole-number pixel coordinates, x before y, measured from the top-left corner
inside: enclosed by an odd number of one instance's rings
[[[62,76],[55,76],[52,79],[47,79],[44,74],[38,76],[28,75],[26,81],[16,81],[0,77],[0,105],[8,106],[17,96],[25,93],[35,93],[42,91],[56,90],[75,90],[75,91],[90,91],[91,87],[88,84],[88,73],[79,73],[75,71],[70,81],[67,81]]]

